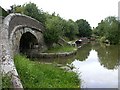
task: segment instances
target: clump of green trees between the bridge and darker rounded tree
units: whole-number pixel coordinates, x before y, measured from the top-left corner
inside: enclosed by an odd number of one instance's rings
[[[67,37],[70,40],[75,38],[78,33],[78,26],[74,21],[66,21],[59,17],[59,15],[55,16],[55,13],[46,16],[44,37],[49,45],[57,43],[60,37]]]

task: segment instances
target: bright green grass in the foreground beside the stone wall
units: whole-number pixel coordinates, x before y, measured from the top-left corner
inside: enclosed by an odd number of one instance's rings
[[[16,55],[14,59],[24,88],[80,87],[74,72],[66,72],[53,64],[30,61],[23,55]]]

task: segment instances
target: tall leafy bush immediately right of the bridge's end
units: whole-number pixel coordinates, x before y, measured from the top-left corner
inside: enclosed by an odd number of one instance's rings
[[[46,31],[44,33],[45,42],[49,43],[49,45],[57,43],[59,37],[63,35],[62,20],[57,16],[51,16],[51,18],[47,18],[45,26],[46,26]]]

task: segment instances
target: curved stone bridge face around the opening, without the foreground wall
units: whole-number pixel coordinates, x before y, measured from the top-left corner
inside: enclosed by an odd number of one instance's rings
[[[24,33],[29,32],[30,35],[34,35],[38,41],[39,52],[46,50],[46,45],[43,38],[43,32],[45,31],[42,23],[39,21],[22,14],[10,14],[4,19],[5,25],[8,28],[8,39],[13,54],[19,53],[20,40]],[[24,34],[27,35],[27,34]]]

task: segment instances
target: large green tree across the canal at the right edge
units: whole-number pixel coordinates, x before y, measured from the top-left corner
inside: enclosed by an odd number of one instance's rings
[[[111,44],[118,44],[120,42],[120,31],[119,31],[120,22],[116,17],[107,17],[98,24],[94,30],[94,34],[99,36],[104,42],[108,40]]]

